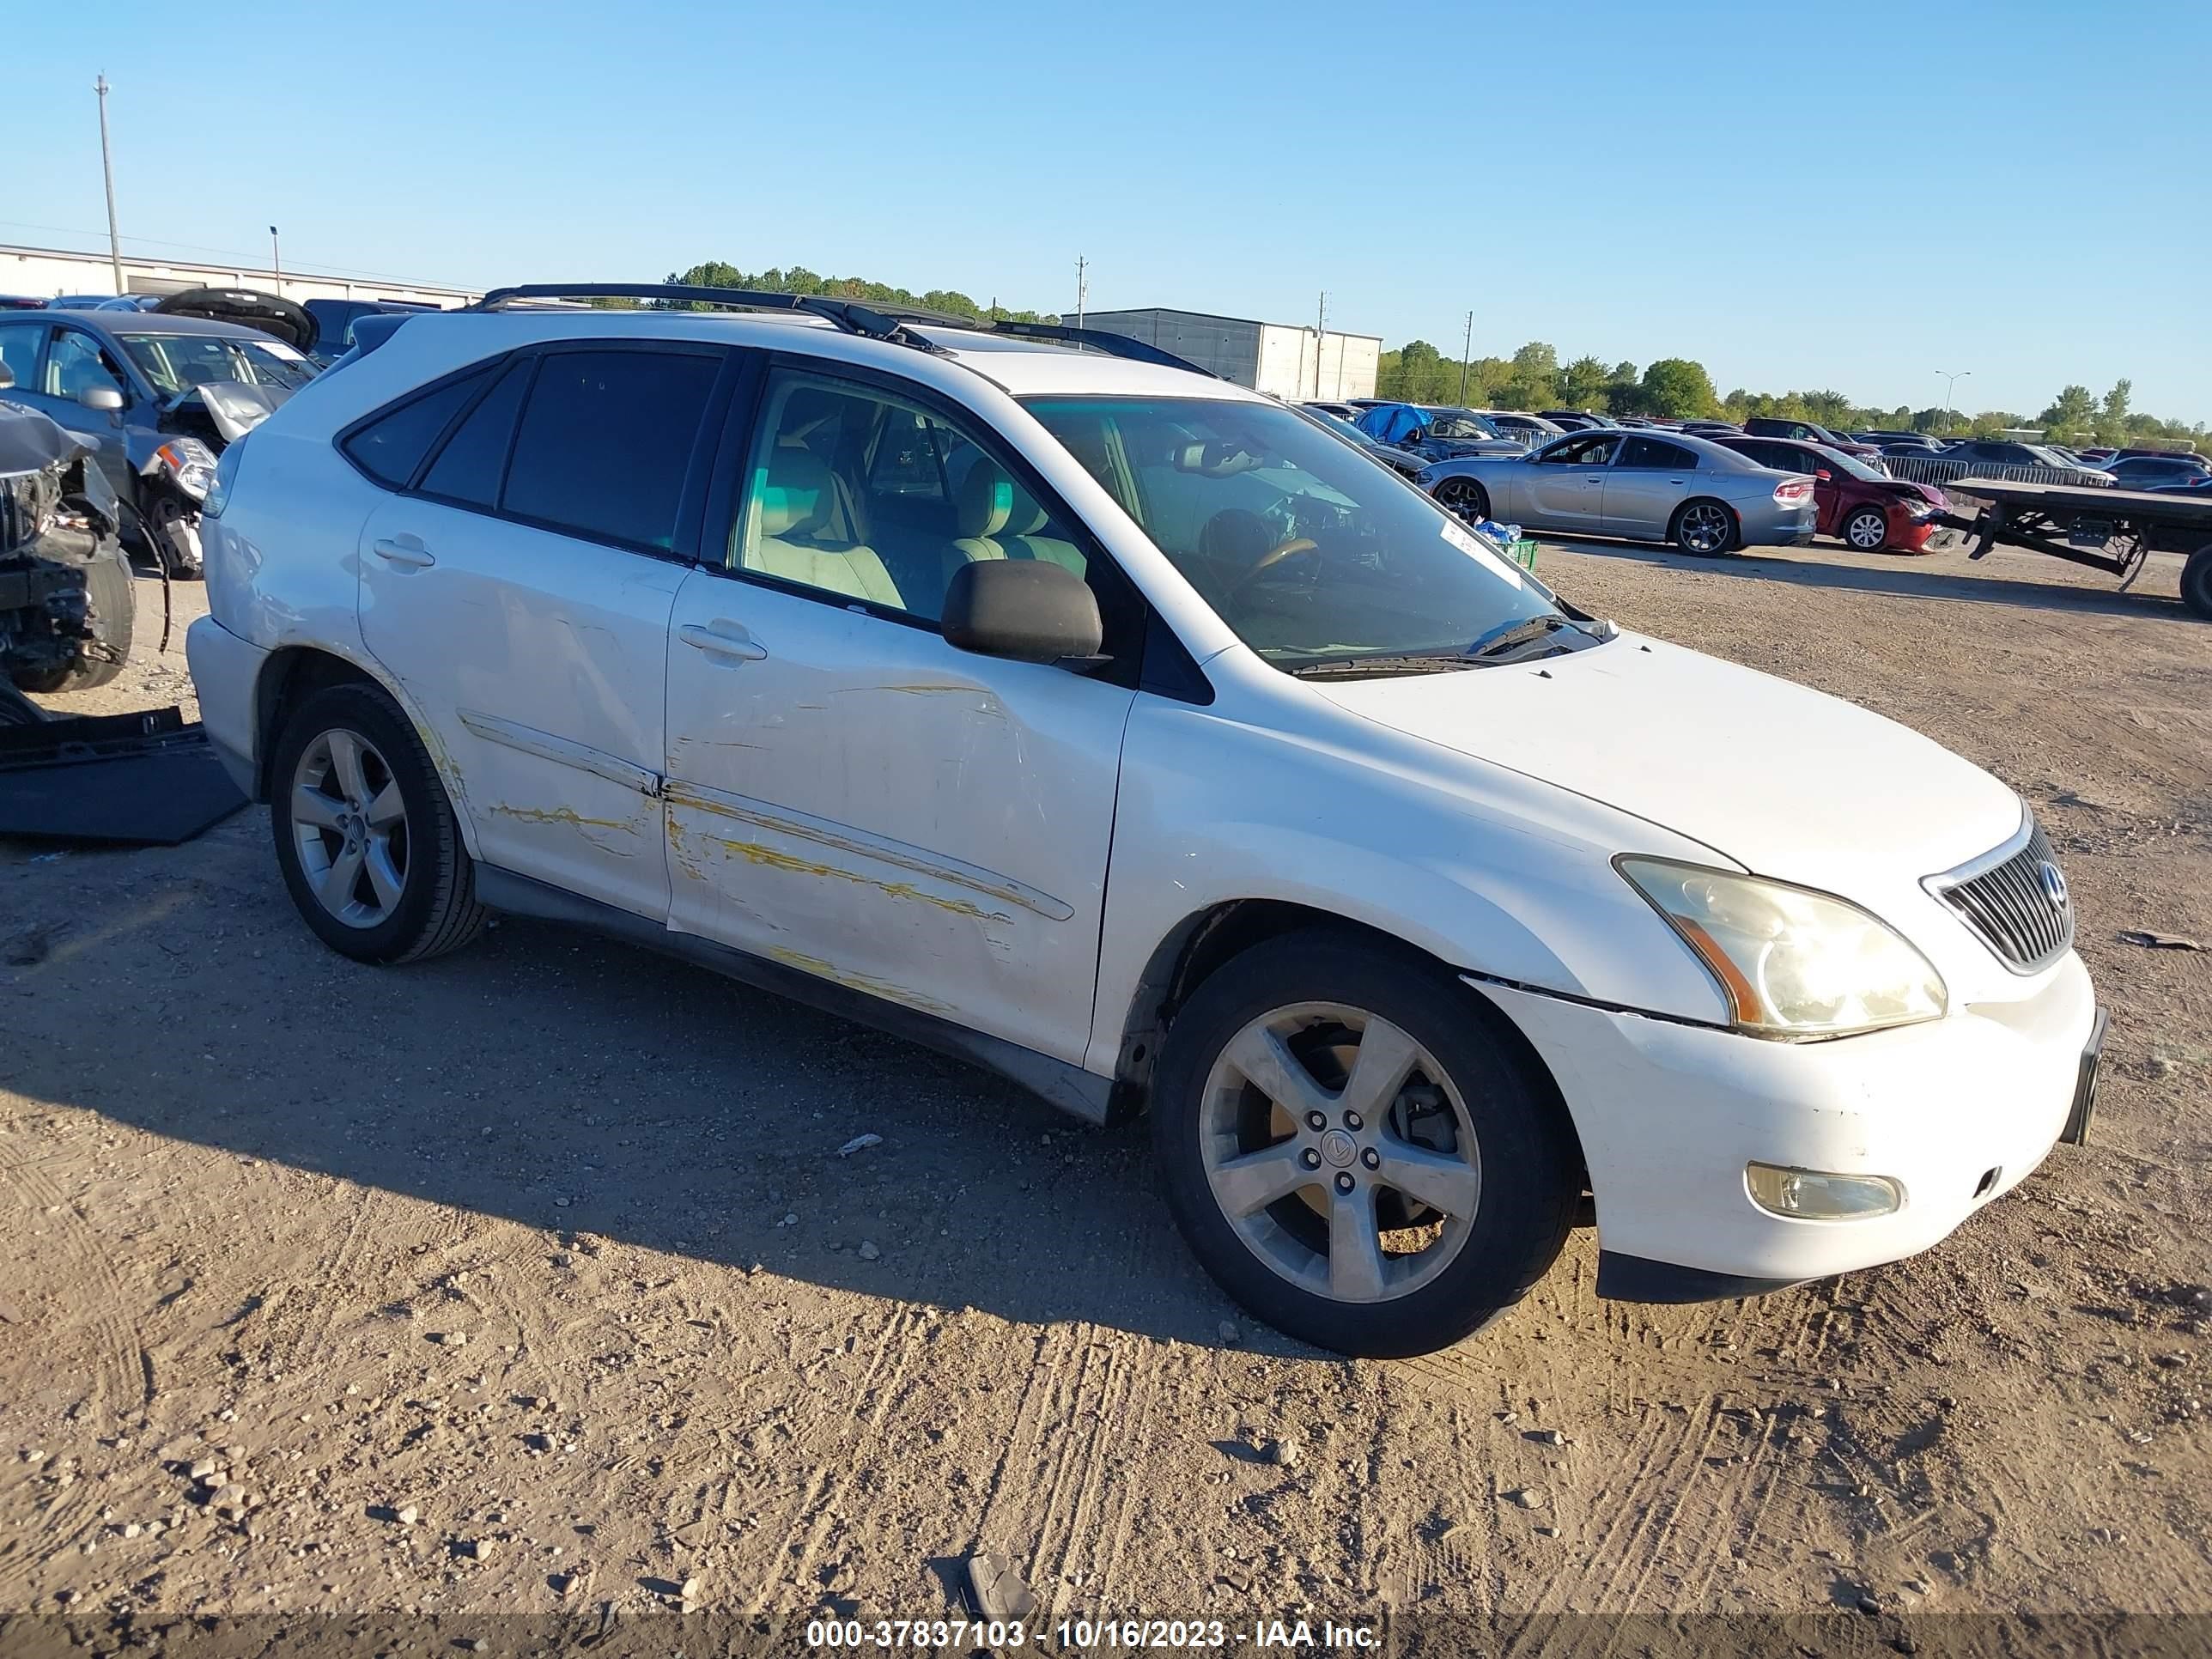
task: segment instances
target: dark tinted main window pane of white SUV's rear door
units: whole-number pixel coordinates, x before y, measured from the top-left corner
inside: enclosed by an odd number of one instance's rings
[[[721,356],[551,352],[538,365],[500,509],[595,540],[670,549]]]

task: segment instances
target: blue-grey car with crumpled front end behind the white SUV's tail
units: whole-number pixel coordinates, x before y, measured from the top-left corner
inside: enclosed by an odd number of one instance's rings
[[[197,577],[215,460],[314,374],[314,319],[254,290],[201,288],[150,312],[0,314],[15,403],[95,445],[126,542]],[[305,345],[303,345],[305,343]]]

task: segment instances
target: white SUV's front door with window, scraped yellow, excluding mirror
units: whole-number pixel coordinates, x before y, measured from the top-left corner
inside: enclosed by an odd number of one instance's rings
[[[1135,692],[938,613],[971,560],[1077,568],[1108,617],[1119,573],[920,389],[779,367],[759,409],[675,604],[670,927],[1079,1064]]]

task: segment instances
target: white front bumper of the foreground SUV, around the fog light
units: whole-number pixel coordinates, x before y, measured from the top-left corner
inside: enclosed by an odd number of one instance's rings
[[[2068,1126],[2097,1026],[2077,956],[2024,1002],[1807,1044],[1469,984],[1551,1066],[1601,1250],[1750,1287],[1911,1256],[2020,1183]],[[1851,1221],[1770,1214],[1745,1188],[1754,1159],[1887,1175],[1905,1203]]]

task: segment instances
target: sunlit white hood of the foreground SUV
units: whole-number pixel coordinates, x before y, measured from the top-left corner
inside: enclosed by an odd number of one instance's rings
[[[1893,891],[2020,830],[2020,796],[1940,743],[1632,633],[1504,668],[1310,686],[1354,714],[1805,887]]]

